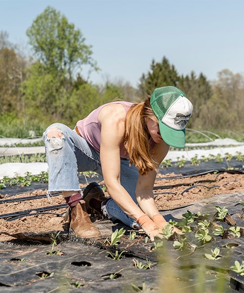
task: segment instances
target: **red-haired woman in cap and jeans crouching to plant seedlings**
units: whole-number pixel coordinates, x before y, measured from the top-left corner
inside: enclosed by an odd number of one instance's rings
[[[191,113],[192,104],[185,94],[166,86],[156,88],[139,104],[102,105],[78,121],[74,130],[63,124],[47,128],[43,141],[49,166],[48,193],[62,192],[71,208],[70,228],[77,236],[100,235],[89,219],[79,186],[78,171],[88,170],[103,176],[111,197],[103,198],[103,214],[142,228],[152,241],[160,236],[167,222],[153,196],[157,169],[169,146],[184,147]]]

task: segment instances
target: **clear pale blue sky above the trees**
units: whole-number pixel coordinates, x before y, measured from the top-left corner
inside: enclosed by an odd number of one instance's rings
[[[0,31],[27,50],[26,30],[47,6],[81,29],[101,68],[90,81],[137,86],[152,59],[179,74],[244,74],[243,0],[0,0]],[[86,76],[86,70],[82,71]]]

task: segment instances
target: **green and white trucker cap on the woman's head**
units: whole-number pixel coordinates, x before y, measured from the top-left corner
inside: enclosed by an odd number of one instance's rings
[[[160,134],[166,144],[175,147],[185,145],[185,126],[192,114],[192,104],[177,87],[156,88],[150,104],[159,119]]]

